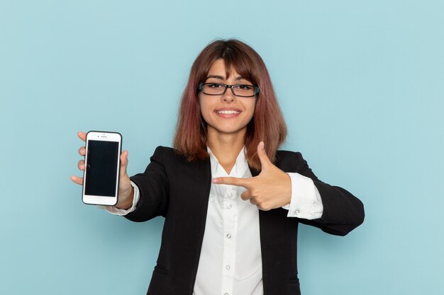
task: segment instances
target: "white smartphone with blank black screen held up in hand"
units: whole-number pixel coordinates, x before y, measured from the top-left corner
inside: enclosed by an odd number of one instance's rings
[[[122,136],[118,132],[87,133],[82,201],[85,204],[117,204]]]

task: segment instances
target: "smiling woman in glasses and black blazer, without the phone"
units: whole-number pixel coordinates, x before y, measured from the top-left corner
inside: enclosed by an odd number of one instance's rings
[[[238,40],[208,45],[182,96],[174,149],[157,147],[131,178],[123,151],[118,204],[107,208],[132,221],[165,216],[148,294],[300,294],[298,224],[343,236],[362,223],[359,199],[318,180],[301,154],[277,151],[286,134],[257,52]]]

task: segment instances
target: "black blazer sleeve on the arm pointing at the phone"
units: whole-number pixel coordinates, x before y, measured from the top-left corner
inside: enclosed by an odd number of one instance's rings
[[[364,222],[364,205],[354,195],[342,187],[328,185],[319,180],[304,160],[296,153],[296,172],[311,178],[321,195],[323,214],[320,219],[299,219],[301,224],[317,228],[337,236],[345,236]]]

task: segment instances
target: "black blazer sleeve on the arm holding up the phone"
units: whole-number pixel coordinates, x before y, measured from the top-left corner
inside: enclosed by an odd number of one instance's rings
[[[166,216],[170,190],[165,172],[164,154],[165,149],[158,146],[145,172],[130,178],[139,188],[140,199],[135,210],[125,215],[127,219],[141,222],[156,216]]]

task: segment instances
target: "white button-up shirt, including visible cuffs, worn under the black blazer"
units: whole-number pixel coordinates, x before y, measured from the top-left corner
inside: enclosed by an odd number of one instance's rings
[[[230,174],[226,173],[208,148],[211,177],[250,178],[252,175],[240,151]],[[287,216],[304,219],[321,218],[321,196],[311,178],[288,173],[292,180],[292,199],[284,206]],[[140,198],[134,187],[133,207],[128,210],[105,207],[107,211],[125,215],[133,212]],[[202,241],[194,295],[262,295],[262,257],[260,252],[259,209],[240,198],[244,187],[211,183],[209,207]]]

